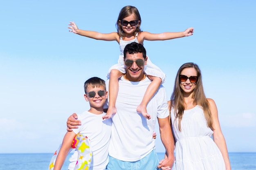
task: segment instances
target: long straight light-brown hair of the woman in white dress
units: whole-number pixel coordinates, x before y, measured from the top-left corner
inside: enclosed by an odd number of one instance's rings
[[[180,88],[180,73],[184,68],[195,68],[197,72],[198,81],[196,82],[196,86],[193,91],[193,99],[194,99],[193,104],[202,106],[204,110],[204,117],[207,121],[207,126],[213,129],[213,120],[211,117],[211,110],[210,110],[209,102],[207,101],[204,94],[204,89],[202,84],[202,74],[201,74],[200,68],[198,67],[197,64],[190,62],[190,63],[183,64],[178,70],[176,79],[175,79],[174,88],[173,88],[173,93],[171,95],[170,108],[174,110],[175,120],[178,119],[179,121],[178,122],[179,130],[181,131],[180,122],[182,120],[182,116],[186,108],[186,105],[184,104],[184,101],[183,101],[182,89]]]

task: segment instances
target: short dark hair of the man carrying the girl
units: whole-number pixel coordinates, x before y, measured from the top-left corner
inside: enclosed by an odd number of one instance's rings
[[[144,59],[146,59],[146,49],[142,44],[139,44],[137,42],[132,42],[126,45],[126,47],[124,48],[124,59],[126,58],[126,53],[142,53]]]

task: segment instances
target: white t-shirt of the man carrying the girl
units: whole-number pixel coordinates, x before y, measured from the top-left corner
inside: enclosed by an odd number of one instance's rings
[[[147,105],[151,119],[148,120],[141,113],[137,113],[136,108],[150,83],[151,80],[147,77],[140,82],[130,82],[124,77],[119,79],[117,113],[112,115],[109,145],[111,157],[121,161],[138,161],[155,148],[152,135],[157,117],[168,117],[169,111],[166,91],[161,85]]]

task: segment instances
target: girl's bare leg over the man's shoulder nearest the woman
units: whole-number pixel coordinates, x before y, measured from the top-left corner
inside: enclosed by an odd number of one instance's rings
[[[151,116],[147,113],[147,104],[162,83],[162,79],[159,77],[148,75],[148,78],[151,79],[152,82],[149,84],[141,103],[137,107],[137,112],[141,113],[146,119],[151,118]]]

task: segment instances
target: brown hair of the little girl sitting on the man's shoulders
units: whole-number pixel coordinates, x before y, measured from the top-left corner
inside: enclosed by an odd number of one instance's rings
[[[140,28],[139,28],[139,27],[140,27],[140,24],[141,24],[141,18],[140,18],[138,9],[137,9],[136,7],[132,7],[132,6],[125,6],[125,7],[123,7],[123,8],[121,9],[121,11],[120,11],[120,13],[119,13],[119,16],[118,16],[118,18],[117,18],[117,23],[116,23],[117,33],[119,33],[120,37],[122,37],[122,38],[124,38],[125,33],[124,33],[124,31],[123,31],[123,29],[122,29],[122,25],[121,25],[121,23],[120,23],[119,21],[120,21],[120,20],[123,20],[124,18],[126,18],[126,17],[128,17],[128,16],[130,16],[130,15],[132,15],[132,14],[135,15],[136,20],[140,21],[140,22],[138,23],[137,29],[136,29],[135,32],[134,32],[134,36],[135,36],[137,33],[141,32],[141,30],[140,30]]]

